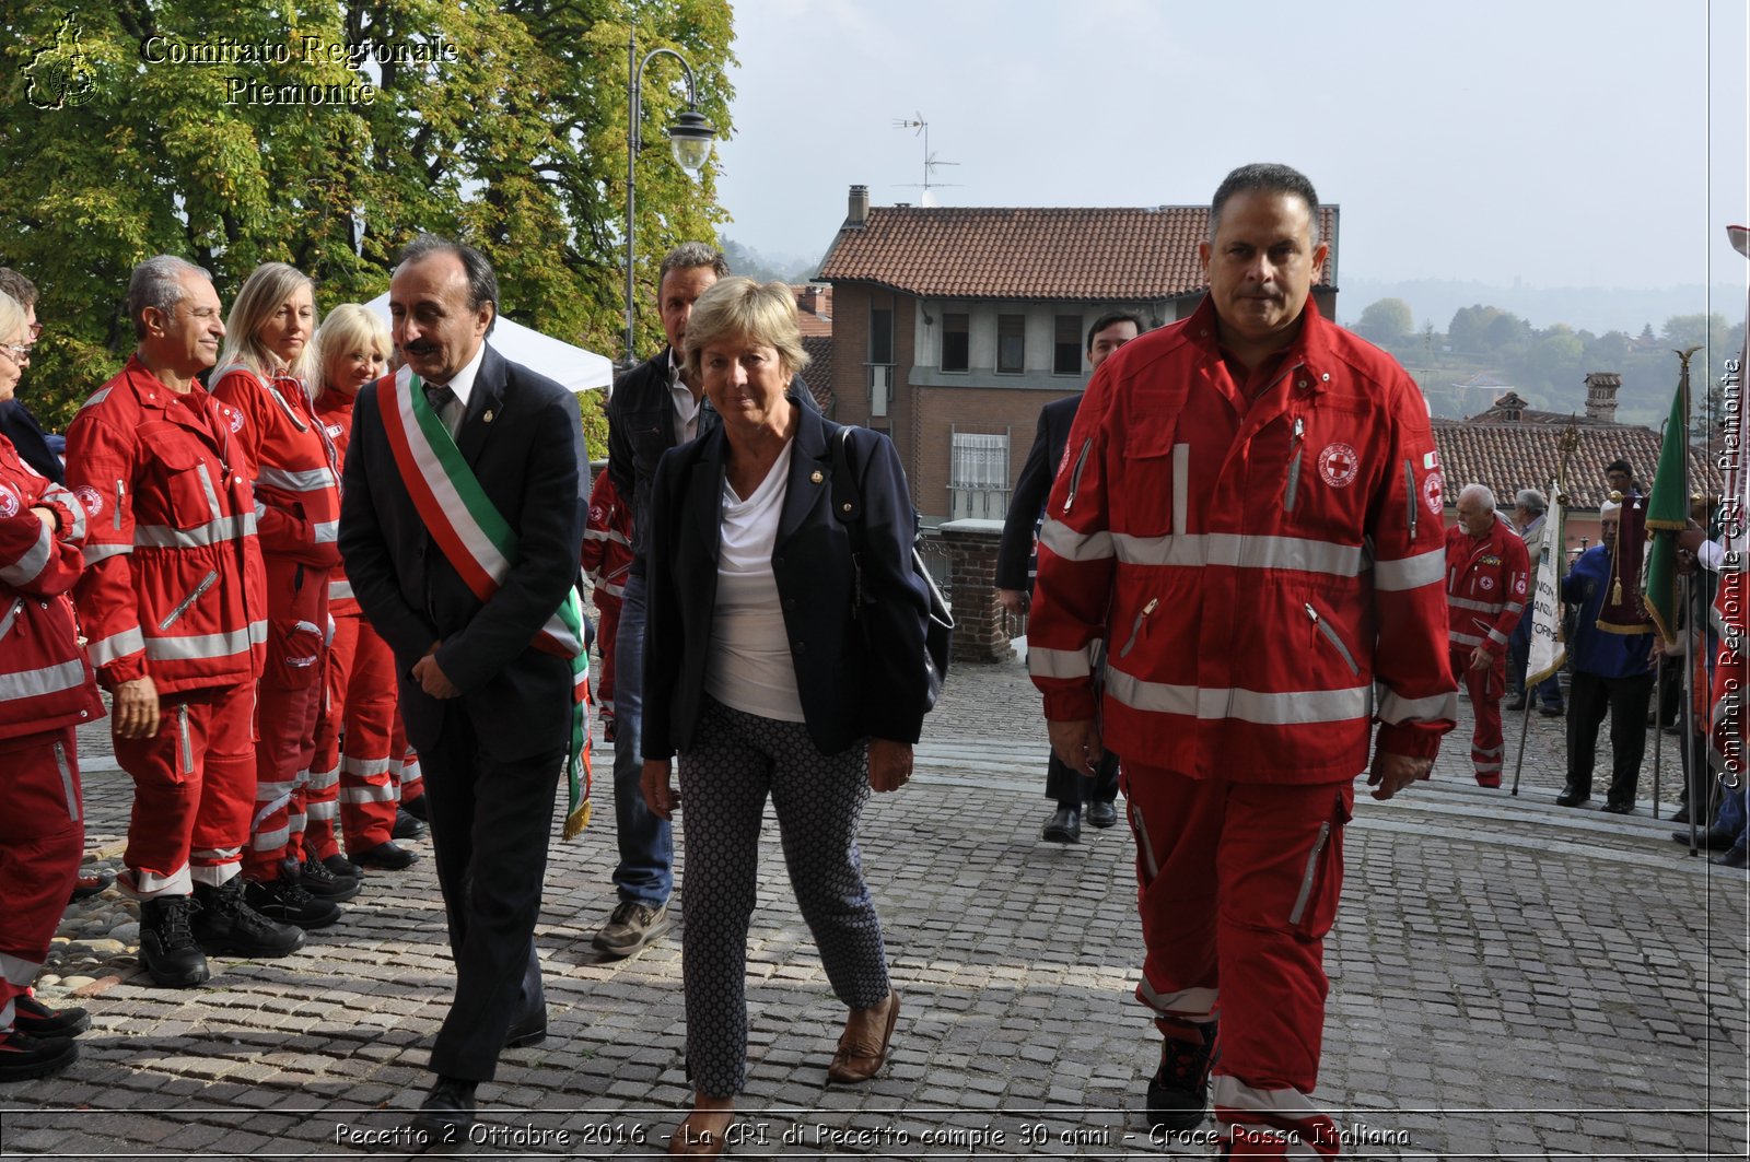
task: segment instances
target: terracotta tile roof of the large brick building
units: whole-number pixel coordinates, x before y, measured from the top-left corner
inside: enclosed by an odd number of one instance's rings
[[[1320,208],[1337,270],[1337,206]],[[1169,299],[1204,289],[1209,206],[872,206],[821,280],[948,299]]]

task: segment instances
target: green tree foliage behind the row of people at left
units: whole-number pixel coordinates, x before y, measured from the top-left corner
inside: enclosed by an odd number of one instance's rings
[[[292,262],[326,308],[382,294],[411,234],[460,236],[497,268],[506,315],[620,355],[628,32],[640,58],[686,56],[700,112],[719,133],[730,124],[728,0],[117,0],[77,14],[72,40],[60,5],[0,0],[0,12],[14,110],[0,180],[16,224],[0,264],[42,292],[24,387],[54,425],[126,357],[128,271],[159,252],[212,270],[226,301],[259,262]],[[178,46],[233,60],[178,63]],[[238,47],[257,60],[234,60]],[[30,86],[65,77],[70,54],[89,88],[35,107],[44,86]],[[280,86],[326,100],[287,103]],[[369,103],[345,100],[364,86]],[[651,346],[656,262],[712,240],[726,215],[712,166],[695,182],[668,156],[665,126],[686,108],[679,65],[656,58],[642,89],[637,336]]]

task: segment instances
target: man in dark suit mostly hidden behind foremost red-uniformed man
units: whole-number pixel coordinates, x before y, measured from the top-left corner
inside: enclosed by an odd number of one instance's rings
[[[1143,332],[1143,320],[1129,312],[1101,315],[1088,327],[1088,373],[1099,369],[1106,357]],[[1032,593],[1032,574],[1038,569],[1034,539],[1040,518],[1045,514],[1045,497],[1052,492],[1064,466],[1069,443],[1069,425],[1076,422],[1082,396],[1055,399],[1040,408],[1040,430],[1032,450],[1015,481],[1008,502],[1008,520],[1003,522],[1003,541],[998,544],[996,586],[1003,609],[1012,614],[1027,612]],[[1050,754],[1045,763],[1045,798],[1057,810],[1045,821],[1040,838],[1054,844],[1082,842],[1082,805],[1087,803],[1088,826],[1110,828],[1118,822],[1118,756],[1106,754],[1094,779],[1083,779]]]

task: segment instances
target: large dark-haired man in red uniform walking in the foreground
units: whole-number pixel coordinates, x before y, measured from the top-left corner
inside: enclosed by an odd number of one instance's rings
[[[1223,1157],[1335,1157],[1309,1094],[1353,779],[1374,719],[1391,798],[1454,718],[1442,481],[1416,385],[1309,296],[1306,177],[1230,173],[1199,252],[1197,312],[1108,359],[1076,413],[1029,667],[1064,763],[1124,756],[1138,999],[1164,1036],[1150,1124],[1195,1127],[1214,1062]]]

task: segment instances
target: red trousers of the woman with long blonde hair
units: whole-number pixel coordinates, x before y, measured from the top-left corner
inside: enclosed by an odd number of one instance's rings
[[[256,718],[256,817],[243,858],[243,873],[252,880],[276,880],[284,859],[301,863],[306,854],[304,788],[317,754],[326,637],[326,626],[303,618],[268,621],[268,663]]]

